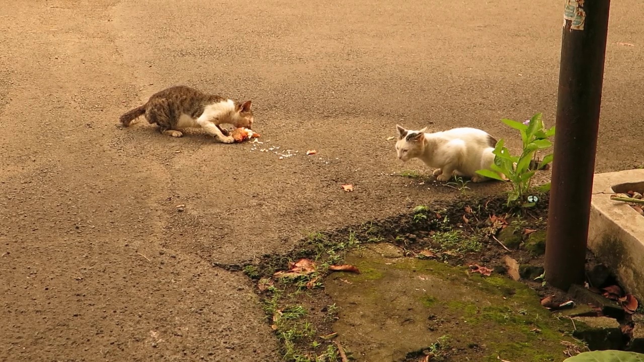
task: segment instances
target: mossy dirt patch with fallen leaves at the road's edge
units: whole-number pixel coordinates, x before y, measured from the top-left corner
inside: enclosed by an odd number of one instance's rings
[[[359,361],[563,361],[586,347],[571,337],[569,318],[540,303],[571,296],[542,281],[548,195],[535,196],[530,209],[507,207],[502,197],[420,205],[311,234],[292,254],[266,256],[245,272],[258,281],[289,361],[333,361],[340,346]],[[270,278],[302,259],[314,271]],[[329,271],[338,264],[360,273]]]

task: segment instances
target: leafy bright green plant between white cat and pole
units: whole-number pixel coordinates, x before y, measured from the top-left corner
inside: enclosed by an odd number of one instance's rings
[[[477,173],[496,180],[504,180],[498,173],[505,175],[512,183],[512,190],[507,196],[507,205],[510,205],[516,200],[524,201],[526,193],[530,190],[532,177],[535,175],[536,170],[553,161],[553,154],[549,153],[544,156],[536,169],[531,169],[530,167],[531,163],[536,162],[536,151],[553,146],[553,143],[548,138],[554,136],[554,126],[545,129],[544,122],[541,120],[541,113],[533,115],[529,121],[524,123],[511,119],[504,119],[502,122],[520,132],[523,151],[520,156],[511,155],[509,149],[504,146],[504,140],[501,139],[497,142],[497,147],[493,151],[495,158],[494,164],[490,167],[491,170],[480,169]],[[540,191],[547,191],[549,188],[550,183],[547,183],[540,187]],[[534,203],[524,204],[526,207],[533,205]]]

